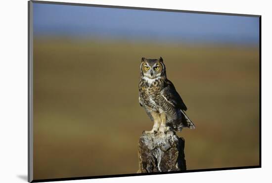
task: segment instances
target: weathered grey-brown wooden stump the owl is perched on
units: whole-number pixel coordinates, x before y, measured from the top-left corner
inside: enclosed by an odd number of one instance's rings
[[[143,134],[138,142],[137,173],[186,170],[184,139],[175,132]]]

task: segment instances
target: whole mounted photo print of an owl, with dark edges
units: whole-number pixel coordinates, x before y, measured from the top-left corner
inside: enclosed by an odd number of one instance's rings
[[[261,16],[28,5],[29,182],[261,167]]]

